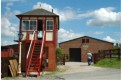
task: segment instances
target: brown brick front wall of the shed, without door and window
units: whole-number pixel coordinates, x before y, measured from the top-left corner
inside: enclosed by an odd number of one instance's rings
[[[85,38],[85,37],[84,37]],[[69,56],[69,48],[81,48],[81,61],[86,62],[87,57],[86,54],[87,52],[91,51],[92,53],[97,53],[98,50],[107,50],[107,49],[112,49],[113,44],[98,40],[98,39],[93,39],[90,37],[86,37],[89,39],[88,43],[88,48],[84,48],[82,44],[82,39],[83,38],[78,38],[74,40],[70,40],[67,42],[60,43],[60,48],[62,48],[65,51],[65,54]],[[67,59],[69,61],[69,59]]]

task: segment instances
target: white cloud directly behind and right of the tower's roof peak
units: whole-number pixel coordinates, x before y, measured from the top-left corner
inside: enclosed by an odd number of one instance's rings
[[[59,10],[57,8],[52,7],[52,5],[50,4],[37,2],[37,4],[33,5],[33,9],[36,9],[36,8],[43,8],[48,11],[52,11],[53,9],[54,13],[60,16],[61,21],[67,21],[67,20],[78,18],[77,12],[70,7],[66,7],[64,10]]]

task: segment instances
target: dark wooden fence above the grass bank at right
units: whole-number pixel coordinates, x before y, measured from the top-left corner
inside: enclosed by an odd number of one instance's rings
[[[94,64],[104,58],[119,58],[121,59],[121,49],[100,50],[93,54]]]

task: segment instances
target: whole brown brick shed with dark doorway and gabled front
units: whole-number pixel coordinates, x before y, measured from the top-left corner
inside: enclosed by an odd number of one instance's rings
[[[59,43],[60,48],[65,51],[66,61],[86,62],[87,52],[93,54],[99,50],[107,50],[113,48],[113,43],[104,40],[83,36],[69,41]]]

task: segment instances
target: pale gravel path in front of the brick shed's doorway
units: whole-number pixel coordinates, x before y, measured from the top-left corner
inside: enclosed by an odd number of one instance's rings
[[[90,72],[102,69],[100,67],[88,66],[87,63],[82,63],[82,62],[67,62],[65,66],[58,66],[58,67],[66,69],[66,71],[61,74],[68,74],[75,72]]]

